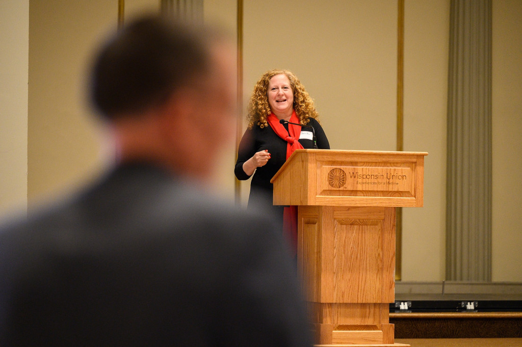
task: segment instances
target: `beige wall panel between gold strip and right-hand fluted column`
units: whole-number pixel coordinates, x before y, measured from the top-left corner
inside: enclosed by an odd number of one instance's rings
[[[424,207],[404,208],[402,280],[445,277],[449,0],[406,1],[404,150],[426,151]]]

